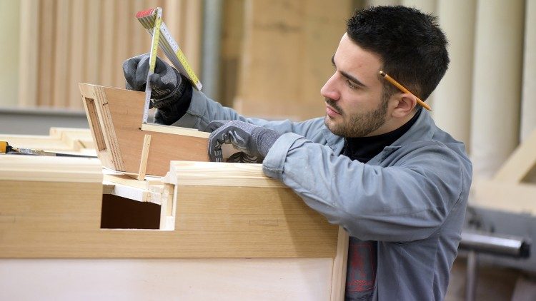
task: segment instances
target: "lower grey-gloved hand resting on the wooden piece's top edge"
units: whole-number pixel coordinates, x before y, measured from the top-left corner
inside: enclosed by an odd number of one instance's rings
[[[234,148],[260,161],[281,136],[269,128],[242,121],[212,121],[205,131],[212,131],[209,136],[209,159],[216,162],[223,161],[223,144],[232,144]]]

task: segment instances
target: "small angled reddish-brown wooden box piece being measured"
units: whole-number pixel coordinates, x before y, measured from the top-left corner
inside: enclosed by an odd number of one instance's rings
[[[151,134],[147,175],[165,175],[171,160],[208,161],[209,133],[169,127],[142,131],[144,93],[80,83],[96,151],[113,170],[138,173],[145,134]]]

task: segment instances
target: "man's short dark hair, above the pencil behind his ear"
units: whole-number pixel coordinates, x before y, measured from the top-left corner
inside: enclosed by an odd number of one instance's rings
[[[425,101],[447,72],[447,38],[437,18],[406,6],[375,6],[356,10],[347,21],[354,43],[382,58],[382,68]],[[387,81],[384,93],[396,88]]]

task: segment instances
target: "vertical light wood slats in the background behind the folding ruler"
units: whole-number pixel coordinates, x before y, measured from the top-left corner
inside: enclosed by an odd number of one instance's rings
[[[124,87],[122,62],[147,53],[151,46],[135,14],[157,6],[163,7],[172,34],[177,38],[182,32],[177,40],[194,71],[199,71],[200,1],[184,1],[181,6],[173,2],[24,0],[19,104],[82,109],[79,82]],[[167,20],[173,20],[171,26]]]

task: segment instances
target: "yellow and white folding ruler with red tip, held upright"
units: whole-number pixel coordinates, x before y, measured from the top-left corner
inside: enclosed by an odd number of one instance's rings
[[[189,81],[192,82],[197,90],[201,90],[202,84],[199,78],[195,75],[192,67],[190,67],[186,56],[179,47],[179,44],[173,39],[169,33],[166,24],[162,21],[162,8],[147,9],[145,11],[138,11],[136,18],[139,23],[144,26],[145,29],[152,35],[151,52],[149,54],[149,73],[147,73],[147,83],[149,83],[149,77],[154,73],[154,67],[157,63],[157,50],[158,46],[164,51],[169,61],[173,63],[173,66],[179,70],[182,75],[186,76]],[[162,37],[162,39],[160,39]],[[147,123],[149,117],[149,103],[151,101],[151,85],[145,85],[145,106],[142,124]]]

